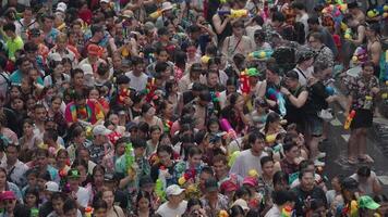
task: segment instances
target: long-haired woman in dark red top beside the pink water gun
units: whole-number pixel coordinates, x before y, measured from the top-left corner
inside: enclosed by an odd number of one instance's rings
[[[235,132],[241,133],[248,124],[248,111],[244,105],[244,98],[234,92],[229,97],[229,105],[221,111],[221,116],[226,118]]]

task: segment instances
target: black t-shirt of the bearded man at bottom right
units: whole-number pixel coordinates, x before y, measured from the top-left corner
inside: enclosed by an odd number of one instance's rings
[[[306,212],[304,212],[305,201],[310,196],[311,201],[319,200],[324,202],[325,206],[327,206],[327,200],[324,190],[318,187],[314,187],[313,190],[306,192],[303,191],[301,187],[295,187],[292,191],[296,194],[296,203],[295,203],[295,210],[296,216],[305,216]]]

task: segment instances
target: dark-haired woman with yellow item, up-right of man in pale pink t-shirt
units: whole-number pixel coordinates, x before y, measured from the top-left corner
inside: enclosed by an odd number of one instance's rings
[[[266,143],[268,146],[276,144],[276,138],[278,135],[286,132],[280,125],[280,116],[278,113],[271,112],[268,114],[262,132],[266,136]]]

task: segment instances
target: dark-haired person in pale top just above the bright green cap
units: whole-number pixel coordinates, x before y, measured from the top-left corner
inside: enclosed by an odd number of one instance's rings
[[[362,194],[369,196],[381,194],[381,184],[369,166],[361,166],[350,178],[359,182],[359,189]]]

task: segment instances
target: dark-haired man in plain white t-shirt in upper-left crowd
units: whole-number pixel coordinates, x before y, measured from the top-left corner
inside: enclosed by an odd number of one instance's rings
[[[130,87],[137,92],[146,89],[148,76],[144,73],[144,60],[138,56],[132,58],[132,71],[125,73],[130,80]]]

